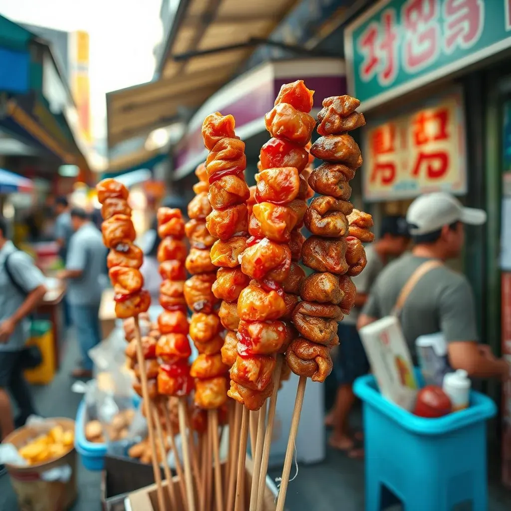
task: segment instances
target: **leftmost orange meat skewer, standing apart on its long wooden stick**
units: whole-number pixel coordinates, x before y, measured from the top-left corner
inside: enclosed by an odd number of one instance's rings
[[[150,294],[142,288],[144,279],[138,269],[142,266],[142,251],[133,244],[136,233],[131,221],[131,208],[128,205],[128,189],[119,181],[104,179],[97,184],[96,190],[98,200],[102,204],[103,242],[110,249],[107,263],[115,291],[115,315],[122,319],[133,318],[134,346],[140,368],[141,391],[146,406],[158,505],[160,509],[165,509],[150,398],[155,388],[151,389],[151,392],[148,388],[144,349],[138,323],[138,315],[147,312],[151,303]]]

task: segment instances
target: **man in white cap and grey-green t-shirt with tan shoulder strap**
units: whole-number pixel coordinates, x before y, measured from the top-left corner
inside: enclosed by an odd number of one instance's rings
[[[486,213],[463,207],[444,193],[422,195],[406,214],[414,247],[389,264],[378,276],[362,309],[357,327],[391,314],[411,275],[427,261],[443,263],[457,258],[464,242],[463,224],[482,225]],[[508,379],[509,364],[496,358],[487,345],[477,343],[474,296],[466,276],[438,264],[425,272],[408,294],[400,322],[416,362],[415,339],[442,332],[448,343],[449,363],[478,378]]]

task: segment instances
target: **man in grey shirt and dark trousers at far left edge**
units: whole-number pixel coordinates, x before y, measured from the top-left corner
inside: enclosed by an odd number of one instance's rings
[[[0,438],[25,424],[35,413],[30,389],[23,376],[22,357],[29,336],[27,316],[41,303],[46,288],[44,275],[32,258],[18,250],[0,217]],[[19,409],[13,420],[7,392]]]

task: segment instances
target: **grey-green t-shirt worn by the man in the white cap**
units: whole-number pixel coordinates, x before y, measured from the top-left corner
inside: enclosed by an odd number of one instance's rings
[[[388,316],[399,293],[425,258],[402,255],[378,276],[362,313],[380,319]],[[442,332],[447,342],[477,341],[475,304],[467,277],[447,266],[426,273],[409,294],[401,311],[403,334],[414,360],[420,335]]]

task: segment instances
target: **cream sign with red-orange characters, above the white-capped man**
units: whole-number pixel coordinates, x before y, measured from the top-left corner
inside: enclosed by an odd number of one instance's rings
[[[460,92],[400,117],[368,124],[362,146],[364,199],[466,193],[464,141]]]

